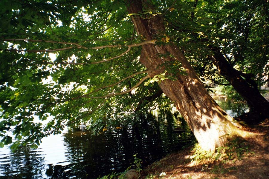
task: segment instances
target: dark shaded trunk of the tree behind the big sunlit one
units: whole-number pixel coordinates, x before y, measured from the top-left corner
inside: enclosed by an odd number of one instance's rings
[[[251,74],[245,74],[234,69],[220,50],[217,48],[212,48],[212,50],[214,51],[214,56],[211,59],[218,71],[231,83],[250,107],[250,112],[240,117],[245,118],[244,120],[249,123],[256,123],[269,118],[269,102],[260,94],[255,81],[250,79]]]

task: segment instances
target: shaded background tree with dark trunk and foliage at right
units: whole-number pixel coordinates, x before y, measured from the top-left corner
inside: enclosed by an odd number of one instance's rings
[[[269,102],[259,92],[269,64],[268,2],[177,1],[173,7],[167,31],[202,80],[231,85],[250,108],[248,122],[268,118]]]

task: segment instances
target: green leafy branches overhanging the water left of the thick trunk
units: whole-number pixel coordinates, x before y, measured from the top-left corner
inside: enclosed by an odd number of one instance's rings
[[[159,90],[141,85],[149,76],[140,49],[155,41],[137,36],[124,1],[1,1],[1,7],[1,147],[12,138],[12,149],[37,147],[66,125],[103,129],[111,115],[134,111]]]

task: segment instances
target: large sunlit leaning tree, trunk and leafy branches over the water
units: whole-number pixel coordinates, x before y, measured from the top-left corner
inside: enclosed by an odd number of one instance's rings
[[[12,142],[9,132],[15,149],[35,148],[66,125],[102,129],[141,100],[165,98],[160,90],[204,149],[246,135],[167,33],[163,16],[175,1],[1,3],[1,146]]]

